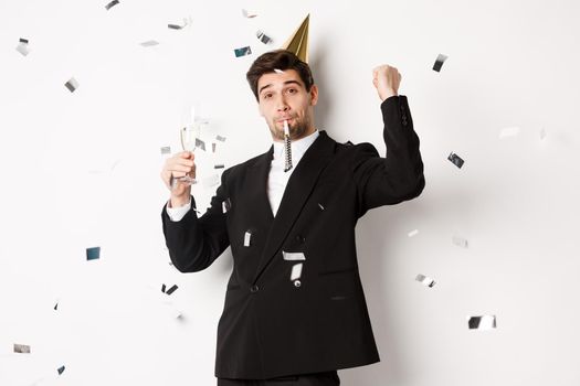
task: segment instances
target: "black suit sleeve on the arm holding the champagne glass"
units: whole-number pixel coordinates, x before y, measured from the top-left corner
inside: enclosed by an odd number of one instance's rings
[[[222,183],[211,199],[211,206],[198,218],[196,211],[190,210],[179,222],[172,222],[167,212],[161,212],[164,235],[169,257],[181,272],[197,272],[211,264],[228,248],[230,239],[225,224],[222,203],[226,199],[225,174]],[[191,206],[196,201],[191,196]]]

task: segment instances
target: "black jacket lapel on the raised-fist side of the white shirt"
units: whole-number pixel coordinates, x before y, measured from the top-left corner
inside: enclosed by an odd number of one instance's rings
[[[266,245],[262,251],[253,281],[260,277],[267,264],[277,254],[282,243],[300,214],[306,200],[310,195],[318,180],[318,175],[330,161],[334,154],[334,148],[335,142],[328,137],[326,131],[320,131],[318,138],[308,150],[306,150],[296,170],[292,173],[284,190],[278,212],[268,233]],[[267,168],[267,170],[270,170],[270,168]],[[265,181],[267,184],[267,173]],[[267,194],[266,201],[270,203]],[[270,204],[267,206],[270,207]],[[270,210],[270,213],[272,215],[272,210]]]

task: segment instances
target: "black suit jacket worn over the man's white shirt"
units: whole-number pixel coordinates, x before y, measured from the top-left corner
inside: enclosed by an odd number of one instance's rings
[[[226,169],[201,217],[190,211],[171,222],[162,211],[167,247],[180,271],[205,269],[232,249],[217,377],[265,379],[379,361],[355,225],[368,210],[413,199],[424,186],[407,97],[388,98],[381,110],[388,156],[380,158],[370,143],[337,143],[320,131],[296,165],[276,217],[266,193],[273,148]],[[284,253],[304,259],[287,260]],[[297,264],[298,282],[291,280]]]

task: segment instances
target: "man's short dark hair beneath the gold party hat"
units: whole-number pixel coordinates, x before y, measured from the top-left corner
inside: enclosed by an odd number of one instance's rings
[[[252,88],[252,93],[254,93],[256,100],[260,100],[257,95],[257,81],[264,74],[274,73],[274,69],[295,69],[300,76],[300,79],[306,87],[306,92],[310,92],[310,88],[314,85],[310,67],[308,64],[300,61],[293,52],[287,50],[266,52],[252,63],[247,74],[245,74],[245,78],[247,79],[247,83],[250,83],[250,88]]]

